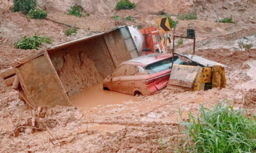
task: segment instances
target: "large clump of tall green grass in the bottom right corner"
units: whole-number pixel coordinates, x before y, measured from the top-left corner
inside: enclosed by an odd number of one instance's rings
[[[201,115],[200,115],[201,114]],[[234,110],[219,103],[212,110],[201,104],[197,117],[189,112],[185,122],[189,140],[183,150],[189,152],[255,152],[256,121],[244,116],[245,111]]]

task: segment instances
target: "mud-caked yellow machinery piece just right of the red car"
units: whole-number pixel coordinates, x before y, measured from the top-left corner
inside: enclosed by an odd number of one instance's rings
[[[173,64],[168,86],[175,86],[191,91],[225,88],[225,70],[221,65],[200,67]]]

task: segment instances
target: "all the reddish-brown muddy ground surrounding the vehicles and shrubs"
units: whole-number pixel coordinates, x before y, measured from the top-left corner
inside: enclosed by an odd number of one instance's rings
[[[95,2],[101,4],[102,1]],[[229,99],[235,108],[255,110],[256,50],[241,51],[237,46],[237,39],[243,39],[246,35],[255,35],[255,24],[248,22],[248,18],[254,17],[248,13],[255,13],[255,5],[251,4],[253,2],[248,5],[246,1],[237,1],[231,5],[229,3],[227,4],[229,9],[223,9],[225,13],[220,16],[227,17],[229,14],[236,13],[236,16],[232,16],[239,23],[216,23],[215,15],[212,13],[215,12],[215,3],[208,4],[211,5],[209,7],[211,11],[205,10],[204,3],[197,3],[193,7],[198,10],[199,20],[180,20],[176,28],[176,32],[186,33],[187,26],[195,27],[197,31],[196,54],[228,66],[226,68],[226,89],[182,92],[166,88],[161,93],[152,96],[133,97],[104,91],[99,85],[73,96],[73,107],[43,108],[46,110],[45,115],[38,115],[34,113],[35,110],[31,110],[27,104],[17,98],[17,92],[6,88],[0,78],[0,152],[161,152],[160,140],[166,144],[165,152],[175,152],[175,148],[168,147],[167,144],[170,143],[170,139],[174,143],[180,139],[180,127],[176,123],[177,119],[180,121],[179,108],[183,112],[184,120],[189,111],[193,114],[197,113],[200,103],[211,108],[222,99]],[[48,20],[28,19],[21,12],[13,13],[9,11],[9,7],[4,7],[6,10],[1,10],[0,16],[2,27],[0,69],[8,68],[13,60],[36,51],[14,48],[13,44],[25,35],[38,34],[51,37],[54,39],[51,44],[53,46],[84,37],[88,31],[105,31],[116,25],[157,27],[156,19],[160,16],[148,13],[149,9],[145,4],[147,5],[147,3],[138,3],[137,7],[139,10],[140,6],[144,6],[141,12],[145,14],[140,14],[134,9],[112,12],[112,9],[106,8],[113,14],[101,16],[88,12],[90,16],[81,18],[68,16],[66,12],[47,9],[49,19],[80,27],[77,35],[70,37],[66,37],[64,31],[67,27],[64,25]],[[95,10],[90,5],[86,6]],[[148,4],[148,6],[154,8],[158,5]],[[175,5],[170,6],[175,7]],[[221,4],[219,6],[222,7]],[[162,10],[162,6],[159,5],[159,7],[161,7],[159,10]],[[115,9],[114,5],[113,9]],[[193,8],[187,8],[184,3],[179,5],[178,9],[185,12],[193,10]],[[241,15],[237,10],[245,10],[245,14]],[[173,9],[168,11],[173,13]],[[127,14],[133,16],[134,20],[116,21],[112,19],[114,15],[125,17]],[[205,19],[212,19],[212,21],[205,21],[204,16]],[[172,18],[177,20],[174,16]],[[255,19],[250,20],[255,21]],[[191,44],[191,42],[186,44],[184,39],[184,45],[176,50],[191,53],[193,49]],[[44,46],[44,48],[47,47]],[[17,136],[13,134],[19,126],[33,126],[34,120],[37,128],[40,128],[38,124],[41,123],[47,125],[49,131],[45,128],[42,130],[22,128]]]

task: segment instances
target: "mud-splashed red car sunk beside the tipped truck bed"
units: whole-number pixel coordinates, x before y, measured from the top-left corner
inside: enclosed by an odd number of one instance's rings
[[[148,54],[124,61],[103,81],[103,89],[131,95],[150,95],[168,84],[172,54]],[[175,64],[183,60],[174,57]]]

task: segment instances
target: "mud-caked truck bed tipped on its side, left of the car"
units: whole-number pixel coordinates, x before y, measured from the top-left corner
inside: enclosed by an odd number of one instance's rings
[[[129,28],[122,26],[15,60],[1,75],[31,107],[72,105],[70,96],[138,56]]]

